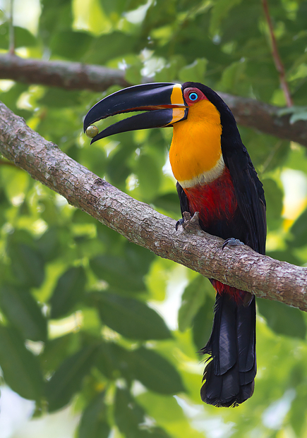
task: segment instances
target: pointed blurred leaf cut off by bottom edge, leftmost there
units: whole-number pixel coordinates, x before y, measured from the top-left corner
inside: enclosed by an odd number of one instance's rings
[[[84,410],[80,420],[78,438],[108,438],[110,427],[104,403],[105,393],[97,394]]]

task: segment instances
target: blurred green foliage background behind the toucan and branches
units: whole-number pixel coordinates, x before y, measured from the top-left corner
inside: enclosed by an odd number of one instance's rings
[[[295,105],[306,106],[307,1],[270,0],[270,12]],[[122,68],[131,84],[142,75],[195,80],[285,105],[260,0],[16,0],[13,18],[19,56]],[[5,53],[4,0],[0,19]],[[171,129],[90,146],[83,116],[101,93],[11,80],[0,90],[70,157],[180,217]],[[306,148],[240,131],[265,186],[267,254],[306,264]],[[255,394],[236,409],[204,406],[197,351],[212,325],[207,279],[128,243],[4,160],[0,181],[1,438],[306,437],[303,312],[257,300]]]

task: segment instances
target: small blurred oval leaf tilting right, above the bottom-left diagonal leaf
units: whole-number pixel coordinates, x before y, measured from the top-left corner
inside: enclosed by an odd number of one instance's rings
[[[85,271],[83,267],[71,267],[60,278],[50,298],[51,318],[59,318],[73,309],[85,292]]]

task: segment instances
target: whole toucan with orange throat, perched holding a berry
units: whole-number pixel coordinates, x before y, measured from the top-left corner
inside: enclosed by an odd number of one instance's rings
[[[92,126],[131,111],[143,112],[100,133]],[[181,213],[198,212],[201,229],[225,239],[224,245],[244,243],[265,254],[263,185],[233,114],[210,87],[193,82],[128,87],[95,104],[84,120],[92,142],[128,130],[164,127],[173,128],[169,160]],[[215,312],[210,339],[201,350],[209,358],[200,396],[213,406],[238,406],[254,391],[255,296],[210,281],[216,291]]]

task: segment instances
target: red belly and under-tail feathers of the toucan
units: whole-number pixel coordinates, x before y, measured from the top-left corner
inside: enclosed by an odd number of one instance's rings
[[[234,184],[227,167],[225,167],[222,176],[212,181],[212,183],[195,185],[195,187],[183,190],[188,197],[191,215],[193,216],[195,212],[199,212],[202,228],[205,231],[215,234],[215,224],[218,221],[229,223],[235,220],[238,204],[234,193]],[[246,292],[214,279],[212,285],[220,295],[229,293],[236,301],[243,300],[246,295]]]

